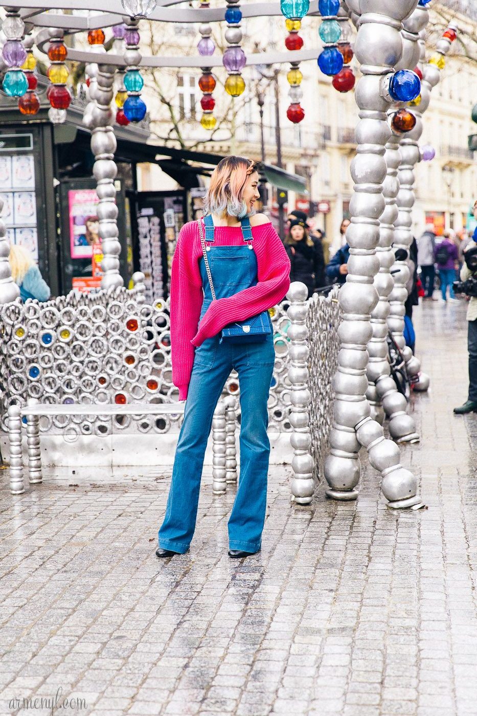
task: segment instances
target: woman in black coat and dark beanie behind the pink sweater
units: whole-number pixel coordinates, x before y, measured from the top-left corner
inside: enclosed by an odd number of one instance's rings
[[[324,286],[324,258],[319,239],[308,236],[305,226],[304,221],[292,219],[285,248],[291,263],[290,281],[302,281],[309,298],[314,289]]]

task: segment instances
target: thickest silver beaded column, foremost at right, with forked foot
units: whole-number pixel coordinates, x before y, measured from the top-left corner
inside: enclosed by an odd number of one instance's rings
[[[386,88],[403,52],[401,21],[416,4],[417,0],[347,2],[352,11],[361,14],[355,54],[363,77],[355,93],[360,122],[356,130],[357,155],[351,166],[355,190],[347,229],[350,260],[346,283],[339,291],[344,316],[339,325],[341,349],[334,377],[331,452],[324,466],[329,484],[327,495],[337,500],[355,499],[360,479],[358,451],[360,445],[364,446],[371,465],[382,473],[382,492],[392,508],[417,507],[422,503],[416,495],[414,475],[400,465],[399,448],[391,440],[385,440],[381,425],[370,417],[365,397],[367,344],[372,337],[370,314],[379,299],[373,279],[380,269],[376,247],[380,238],[379,218],[385,210],[382,183],[387,171],[385,143],[390,137]]]

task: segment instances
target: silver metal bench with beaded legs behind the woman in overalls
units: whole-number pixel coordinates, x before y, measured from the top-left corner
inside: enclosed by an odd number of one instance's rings
[[[235,483],[236,445],[235,421],[236,400],[228,396],[220,400],[213,415],[213,492],[226,492],[226,483]],[[42,404],[31,398],[24,407],[11,405],[8,409],[8,439],[10,452],[10,491],[12,495],[24,493],[23,453],[21,448],[22,418],[26,417],[26,445],[28,455],[29,483],[42,483],[42,458],[40,454],[39,417],[52,415],[172,415],[181,414],[185,402],[171,403],[84,403],[60,405]]]

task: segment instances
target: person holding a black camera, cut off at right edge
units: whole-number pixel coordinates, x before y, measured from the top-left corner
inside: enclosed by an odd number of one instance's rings
[[[477,201],[473,205],[473,216],[477,218]],[[468,400],[454,408],[456,415],[477,412],[477,228],[463,253],[461,281],[454,282],[454,291],[470,296],[467,309],[468,321]]]

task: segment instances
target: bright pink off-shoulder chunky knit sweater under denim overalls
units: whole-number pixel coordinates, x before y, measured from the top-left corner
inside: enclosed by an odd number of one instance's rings
[[[220,332],[233,321],[250,316],[279,303],[290,286],[290,261],[283,243],[271,223],[252,227],[258,264],[256,286],[234,296],[212,301],[198,326],[203,304],[199,262],[201,239],[196,221],[186,223],[178,236],[170,276],[170,346],[173,383],[179,400],[186,400],[194,362],[195,346]],[[216,226],[213,246],[241,246],[240,226]]]

